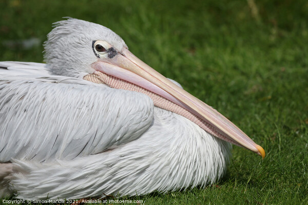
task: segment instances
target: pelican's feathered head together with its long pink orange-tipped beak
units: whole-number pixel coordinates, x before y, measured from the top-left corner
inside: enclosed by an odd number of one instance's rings
[[[45,43],[45,60],[53,74],[83,78],[91,73],[104,73],[120,78],[171,101],[186,112],[183,116],[188,111],[188,115],[204,122],[206,131],[216,137],[264,158],[261,146],[215,109],[143,63],[110,29],[74,18],[55,25]]]

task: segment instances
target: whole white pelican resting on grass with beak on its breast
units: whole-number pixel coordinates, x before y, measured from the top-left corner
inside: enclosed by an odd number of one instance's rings
[[[0,62],[0,196],[165,193],[218,181],[231,144],[265,156],[104,26],[62,20],[44,47],[46,64]]]

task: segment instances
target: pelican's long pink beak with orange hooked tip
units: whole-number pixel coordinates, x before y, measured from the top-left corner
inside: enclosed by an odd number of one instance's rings
[[[259,154],[262,158],[265,157],[263,148],[226,117],[143,63],[128,49],[124,48],[112,58],[101,59],[94,63],[92,67],[97,71],[123,79],[172,101],[197,116],[198,119],[200,118],[204,124],[207,124],[207,131],[211,134],[247,148]]]

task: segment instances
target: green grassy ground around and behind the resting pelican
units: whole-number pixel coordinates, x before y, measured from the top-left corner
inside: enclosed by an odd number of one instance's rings
[[[308,204],[306,1],[0,1],[0,60],[42,62],[51,23],[109,27],[151,67],[214,106],[266,151],[234,147],[215,186],[122,199],[145,204]],[[2,200],[0,201],[2,203]]]

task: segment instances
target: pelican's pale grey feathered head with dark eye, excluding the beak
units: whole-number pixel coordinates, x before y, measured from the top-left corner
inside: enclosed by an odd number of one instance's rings
[[[128,49],[119,35],[99,24],[68,18],[54,26],[44,45],[44,57],[55,75],[83,78],[94,72],[91,65],[96,61]]]

